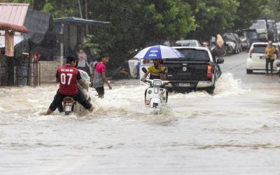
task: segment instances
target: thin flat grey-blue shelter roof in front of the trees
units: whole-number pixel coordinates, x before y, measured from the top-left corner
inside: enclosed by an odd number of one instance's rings
[[[53,22],[76,23],[76,24],[84,24],[84,25],[105,25],[105,24],[111,23],[111,22],[105,22],[105,21],[85,20],[83,18],[76,18],[76,17],[55,18],[53,20]]]

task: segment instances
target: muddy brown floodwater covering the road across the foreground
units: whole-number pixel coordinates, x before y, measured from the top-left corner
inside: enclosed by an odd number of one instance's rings
[[[214,94],[169,94],[144,107],[147,85],[91,91],[85,116],[39,116],[57,85],[0,88],[0,174],[280,174],[279,76],[246,75],[225,57]]]

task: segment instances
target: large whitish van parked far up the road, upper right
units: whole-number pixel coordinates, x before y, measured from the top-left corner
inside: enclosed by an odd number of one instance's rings
[[[250,29],[255,29],[261,41],[268,40],[267,20],[255,20],[252,22]]]

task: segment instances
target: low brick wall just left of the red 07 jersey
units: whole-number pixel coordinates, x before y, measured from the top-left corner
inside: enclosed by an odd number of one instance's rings
[[[61,66],[59,61],[40,61],[41,83],[56,83],[57,68]]]

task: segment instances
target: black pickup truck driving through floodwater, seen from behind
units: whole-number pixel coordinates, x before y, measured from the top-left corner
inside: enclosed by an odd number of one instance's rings
[[[175,91],[204,89],[210,94],[214,92],[216,80],[222,71],[219,64],[223,58],[216,60],[208,48],[204,47],[174,47],[185,57],[165,59],[168,69],[167,80],[169,88]]]

